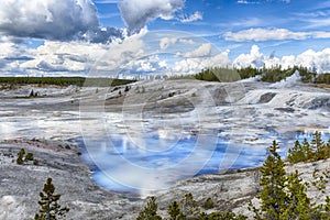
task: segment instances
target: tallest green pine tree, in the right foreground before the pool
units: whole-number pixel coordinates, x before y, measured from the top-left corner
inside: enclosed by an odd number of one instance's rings
[[[273,142],[268,148],[268,156],[261,167],[262,191],[257,196],[261,199],[261,217],[266,219],[279,219],[286,209],[287,195],[285,193],[286,172],[284,162],[276,152],[278,144]]]

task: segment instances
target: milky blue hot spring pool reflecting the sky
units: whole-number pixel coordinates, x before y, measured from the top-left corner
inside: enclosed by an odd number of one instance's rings
[[[150,132],[143,136],[112,134],[76,141],[82,146],[82,161],[92,169],[91,178],[99,186],[116,191],[164,189],[176,180],[197,175],[257,167],[266,157],[268,145],[263,142],[238,144],[215,133]],[[286,156],[287,151],[283,146],[293,146],[296,140],[305,138],[310,140],[311,135],[282,135],[274,131],[260,135],[260,140],[277,140],[282,156]],[[323,138],[328,140],[330,135]]]

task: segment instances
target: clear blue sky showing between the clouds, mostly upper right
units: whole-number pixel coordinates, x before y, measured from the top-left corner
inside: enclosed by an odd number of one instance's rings
[[[105,26],[125,28],[117,2],[100,3],[95,1],[101,24]],[[107,1],[103,1],[107,2]],[[108,1],[109,2],[109,1]],[[180,22],[182,18],[200,12],[202,19],[191,22]],[[226,41],[227,32],[240,32],[249,29],[276,30],[286,29],[289,32],[328,32],[330,31],[330,1],[310,0],[187,0],[185,7],[176,12],[170,20],[156,19],[147,22],[148,30],[177,30],[201,35],[219,48],[232,48],[231,57],[249,52],[253,44],[260,45],[265,53],[277,55],[296,55],[311,48],[321,51],[330,46],[330,37],[317,38],[306,36],[296,40],[287,37],[266,41],[246,40],[238,42]],[[308,34],[307,34],[308,35]]]

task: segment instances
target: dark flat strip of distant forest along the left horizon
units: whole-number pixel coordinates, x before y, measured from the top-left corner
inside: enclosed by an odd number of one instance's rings
[[[113,79],[113,78],[85,78],[85,77],[0,77],[0,84],[10,85],[56,85],[56,86],[121,86],[136,80]]]

